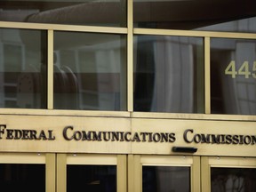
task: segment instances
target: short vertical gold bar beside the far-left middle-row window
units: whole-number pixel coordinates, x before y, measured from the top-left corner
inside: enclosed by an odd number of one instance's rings
[[[47,108],[53,109],[53,30],[48,30],[47,38]]]

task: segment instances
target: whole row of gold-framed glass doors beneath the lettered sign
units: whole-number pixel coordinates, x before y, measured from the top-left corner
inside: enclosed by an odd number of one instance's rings
[[[1,153],[8,191],[252,192],[256,158]]]

